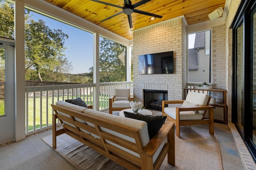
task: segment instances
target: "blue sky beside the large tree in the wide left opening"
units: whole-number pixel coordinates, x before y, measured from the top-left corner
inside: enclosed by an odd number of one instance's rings
[[[31,12],[34,21],[43,20],[50,29],[61,29],[68,34],[64,46],[65,56],[72,63],[71,74],[89,72],[93,66],[93,34],[68,24],[48,18],[36,12]]]

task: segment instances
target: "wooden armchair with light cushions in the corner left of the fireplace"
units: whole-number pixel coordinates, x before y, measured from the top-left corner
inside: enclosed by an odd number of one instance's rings
[[[121,111],[130,107],[130,102],[133,100],[133,96],[130,94],[130,88],[115,89],[114,96],[109,98],[109,113],[113,111]]]

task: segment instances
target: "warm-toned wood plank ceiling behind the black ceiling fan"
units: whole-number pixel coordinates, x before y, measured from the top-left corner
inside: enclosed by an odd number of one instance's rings
[[[133,39],[132,31],[154,23],[169,20],[184,15],[188,25],[210,20],[208,14],[222,6],[224,10],[226,0],[150,0],[136,7],[142,10],[163,16],[156,20],[149,20],[150,16],[133,12],[130,28],[127,15],[122,13],[109,20],[102,21],[118,12],[122,8],[101,4],[91,0],[45,0],[68,12],[71,12],[100,27],[108,29],[127,39]],[[124,0],[101,0],[110,4],[124,6]],[[131,0],[132,5],[141,0]],[[102,22],[101,22],[102,21]]]

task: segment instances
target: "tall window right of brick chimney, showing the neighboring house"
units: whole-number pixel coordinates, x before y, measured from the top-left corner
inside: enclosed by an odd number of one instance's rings
[[[211,31],[188,34],[188,82],[211,82]]]

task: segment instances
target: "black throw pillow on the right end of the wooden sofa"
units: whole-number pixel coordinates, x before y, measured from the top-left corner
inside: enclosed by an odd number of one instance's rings
[[[161,127],[164,124],[164,121],[167,117],[167,116],[163,116],[163,115],[157,115],[157,116],[142,115],[140,113],[130,113],[127,111],[124,111],[124,116],[130,117],[132,119],[146,121],[146,123],[148,124],[148,136],[149,136],[150,140],[161,129]]]

